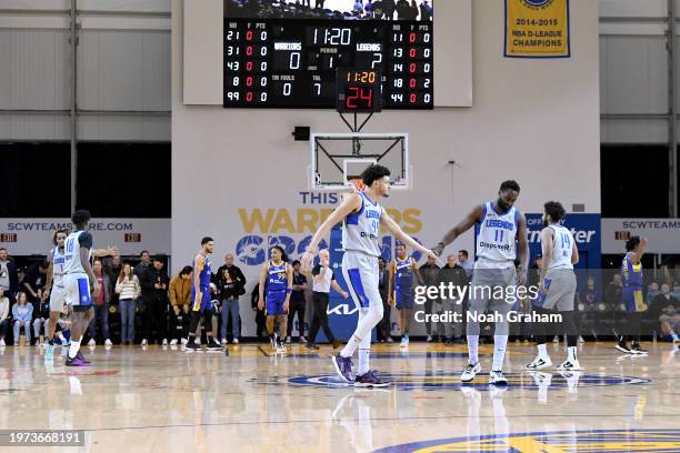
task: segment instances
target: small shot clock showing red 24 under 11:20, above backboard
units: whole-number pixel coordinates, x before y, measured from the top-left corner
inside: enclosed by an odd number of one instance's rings
[[[380,71],[368,69],[338,69],[339,112],[369,113],[382,109],[382,77]]]

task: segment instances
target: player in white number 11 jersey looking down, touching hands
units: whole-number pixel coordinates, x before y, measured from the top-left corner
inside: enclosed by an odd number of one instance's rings
[[[499,316],[493,334],[493,363],[489,373],[489,383],[507,385],[503,375],[503,360],[508,344],[508,313],[512,304],[508,302],[509,293],[520,281],[527,281],[527,264],[529,262],[529,243],[527,240],[527,219],[514,208],[520,192],[516,181],[504,181],[496,201],[489,201],[476,207],[466,219],[444,235],[434,251],[438,254],[453,242],[456,238],[477,225],[477,262],[470,284],[470,309],[468,319],[468,365],[460,380],[471,382],[481,371],[479,363],[479,322],[474,318],[489,309]],[[516,270],[517,268],[517,270]],[[494,298],[501,293],[506,298]],[[508,299],[508,300],[507,300]]]

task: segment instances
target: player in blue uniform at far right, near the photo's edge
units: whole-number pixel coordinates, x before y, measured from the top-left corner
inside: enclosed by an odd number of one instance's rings
[[[642,288],[644,280],[642,275],[642,255],[647,249],[647,238],[632,236],[626,242],[626,256],[621,265],[623,288],[621,295],[626,306],[627,325],[624,333],[619,335],[619,342],[614,346],[618,351],[628,354],[647,354],[647,350],[640,346],[640,320],[647,311]],[[628,341],[632,340],[632,346],[628,348]]]

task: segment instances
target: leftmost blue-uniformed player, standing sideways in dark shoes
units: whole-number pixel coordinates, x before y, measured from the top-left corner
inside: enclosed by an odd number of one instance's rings
[[[196,332],[203,321],[203,329],[208,336],[208,352],[221,352],[223,348],[214,339],[212,331],[212,303],[210,301],[210,279],[212,268],[210,255],[214,249],[212,238],[201,240],[201,250],[193,258],[193,280],[191,281],[191,323],[189,324],[189,338],[184,352],[201,352],[200,344],[196,343]]]

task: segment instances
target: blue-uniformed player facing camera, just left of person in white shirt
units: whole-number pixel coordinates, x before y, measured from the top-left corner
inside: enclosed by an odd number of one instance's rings
[[[274,245],[270,251],[271,260],[260,270],[260,300],[258,309],[267,313],[267,331],[269,343],[274,352],[283,353],[283,339],[288,329],[288,306],[292,293],[293,270],[288,264],[288,255],[280,245]],[[279,334],[274,332],[276,323],[279,324]]]

